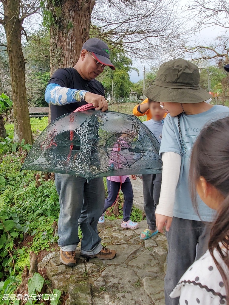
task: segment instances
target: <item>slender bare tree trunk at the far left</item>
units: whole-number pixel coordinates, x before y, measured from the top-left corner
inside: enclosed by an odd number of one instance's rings
[[[9,56],[9,69],[12,87],[14,142],[32,144],[29,110],[25,88],[25,59],[21,48],[22,21],[19,20],[18,0],[5,0],[4,29],[6,34],[7,52]]]

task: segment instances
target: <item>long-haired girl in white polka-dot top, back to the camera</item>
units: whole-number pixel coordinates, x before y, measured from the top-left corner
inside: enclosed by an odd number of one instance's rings
[[[181,277],[170,297],[179,304],[229,304],[229,117],[205,127],[191,154],[189,180],[194,208],[197,192],[216,210],[207,252]],[[197,192],[196,192],[197,191]]]

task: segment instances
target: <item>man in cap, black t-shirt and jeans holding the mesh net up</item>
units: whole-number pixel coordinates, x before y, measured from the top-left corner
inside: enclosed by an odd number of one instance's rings
[[[107,44],[91,38],[82,46],[78,62],[73,68],[56,70],[45,91],[45,101],[50,104],[51,121],[87,103],[93,104],[96,110],[107,110],[104,87],[95,78],[105,66],[115,70],[109,57]],[[93,179],[88,184],[85,178],[55,173],[55,183],[60,196],[58,245],[61,262],[67,266],[76,264],[78,224],[82,230],[81,255],[101,260],[113,259],[116,252],[101,245],[97,231],[105,200],[103,178]]]

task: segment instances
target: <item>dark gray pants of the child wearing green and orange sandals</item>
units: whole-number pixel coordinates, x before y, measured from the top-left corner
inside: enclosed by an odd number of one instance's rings
[[[156,229],[155,210],[159,202],[162,174],[142,175],[144,211],[148,227],[151,231]]]

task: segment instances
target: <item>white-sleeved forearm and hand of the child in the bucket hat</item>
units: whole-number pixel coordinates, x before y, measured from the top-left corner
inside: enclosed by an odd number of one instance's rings
[[[162,154],[162,185],[159,204],[156,208],[156,225],[159,232],[166,231],[172,223],[173,206],[175,202],[176,185],[180,175],[181,156],[176,152],[164,152]]]

